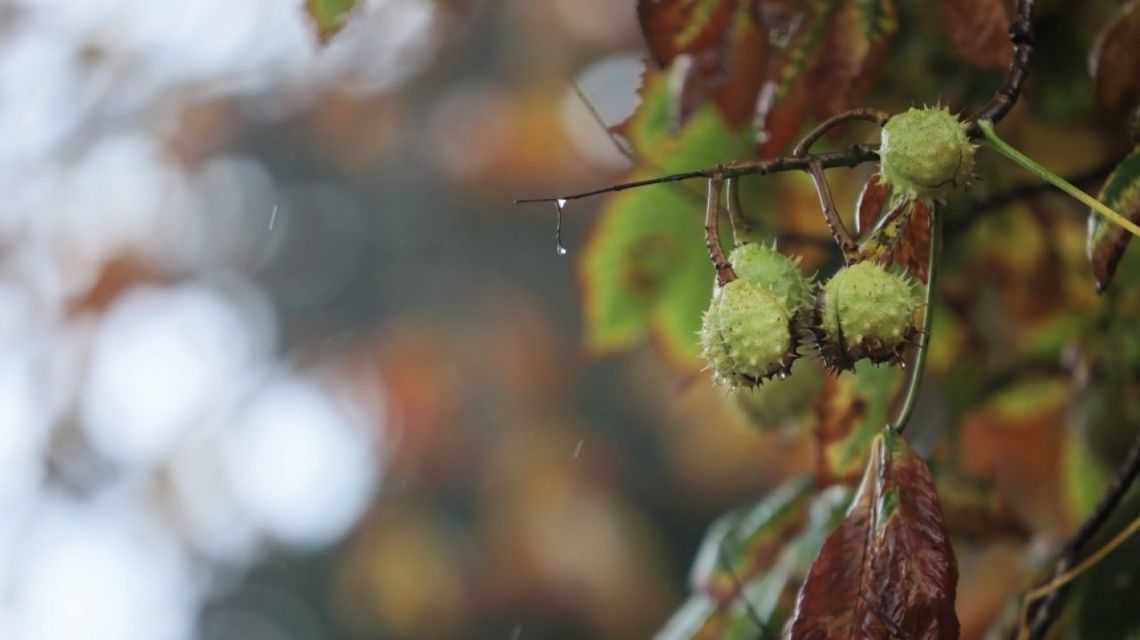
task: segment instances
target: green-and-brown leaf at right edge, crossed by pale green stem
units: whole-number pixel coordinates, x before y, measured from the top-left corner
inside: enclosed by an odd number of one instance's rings
[[[1140,72],[1140,66],[1137,71]],[[1100,201],[1130,220],[1140,221],[1140,147],[1137,147],[1108,176],[1100,192]],[[1110,222],[1099,213],[1089,212],[1086,249],[1089,262],[1092,265],[1092,276],[1097,280],[1097,291],[1105,291],[1113,282],[1116,267],[1124,258],[1124,251],[1131,240],[1132,234],[1119,225]]]

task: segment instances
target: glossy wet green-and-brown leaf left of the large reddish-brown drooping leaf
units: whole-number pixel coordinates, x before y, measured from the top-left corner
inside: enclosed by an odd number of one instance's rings
[[[793,480],[759,505],[714,524],[693,566],[694,594],[656,638],[777,637],[812,561],[850,503],[848,487],[829,487],[811,495],[811,486],[806,480]],[[788,526],[792,520],[789,515],[797,522],[795,528]]]

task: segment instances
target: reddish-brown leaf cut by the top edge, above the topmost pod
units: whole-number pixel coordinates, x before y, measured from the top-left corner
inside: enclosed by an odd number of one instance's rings
[[[958,55],[977,66],[1001,68],[1013,57],[1003,0],[943,0],[942,26]]]

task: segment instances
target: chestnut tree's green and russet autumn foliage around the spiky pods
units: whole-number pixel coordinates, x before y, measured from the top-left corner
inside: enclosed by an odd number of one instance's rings
[[[309,6],[332,33],[351,2]],[[809,430],[816,465],[710,527],[691,597],[660,637],[1140,634],[1140,609],[1116,605],[1140,589],[1140,258],[1127,251],[1140,221],[1140,1],[636,10],[641,104],[611,131],[635,169],[617,187],[540,199],[561,209],[605,194],[577,262],[594,354],[648,341],[711,383],[698,333],[739,275],[727,251],[748,243],[774,241],[820,284],[871,262],[925,291],[905,348],[821,366],[817,308],[801,327],[816,340],[792,337],[787,372],[726,392],[759,427]],[[879,129],[923,105],[948,108],[982,147],[937,193],[879,171],[882,160],[898,172]],[[763,410],[773,388],[807,402],[775,416]],[[959,560],[994,544],[1024,550],[1019,586],[988,616],[960,619]],[[963,578],[980,570],[962,567]]]

